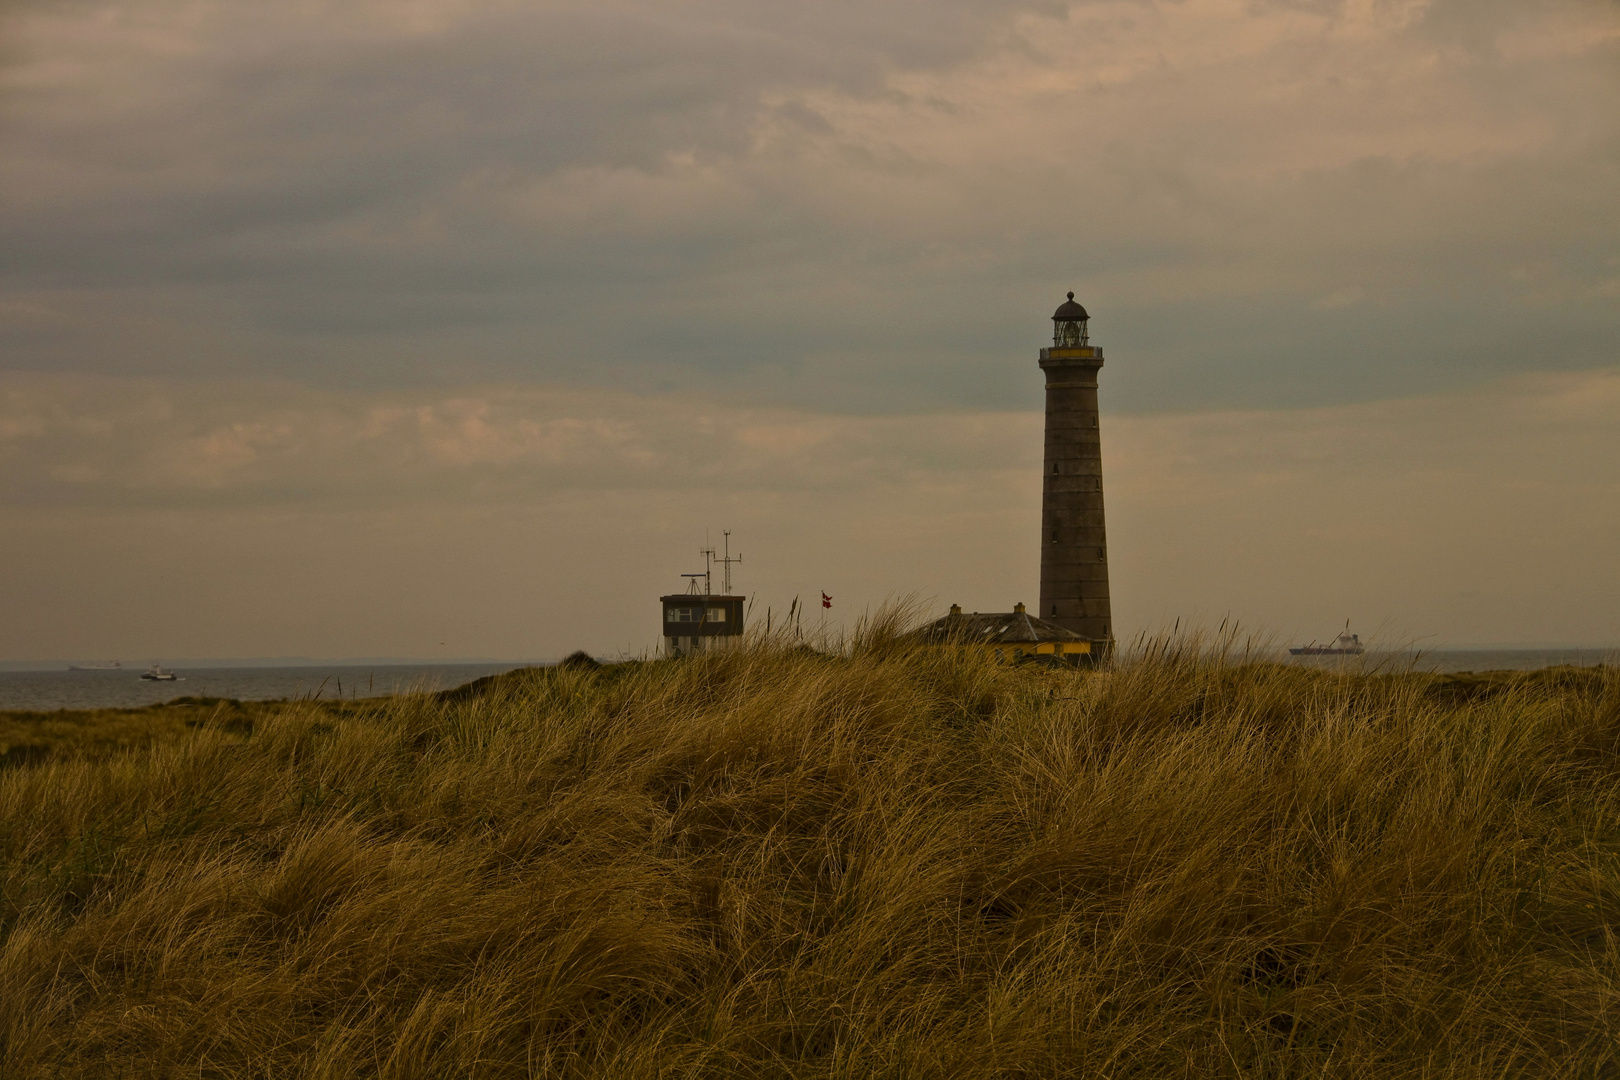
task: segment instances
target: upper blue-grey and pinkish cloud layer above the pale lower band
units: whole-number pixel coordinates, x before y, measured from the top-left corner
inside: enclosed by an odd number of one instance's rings
[[[1601,366],[1620,329],[1596,0],[6,18],[13,368],[1029,408],[996,358],[1072,287],[1153,410]]]

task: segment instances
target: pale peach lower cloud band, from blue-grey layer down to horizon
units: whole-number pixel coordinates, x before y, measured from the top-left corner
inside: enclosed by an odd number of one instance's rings
[[[721,528],[761,612],[821,588],[838,619],[1038,596],[1038,413],[16,377],[0,400],[15,657],[431,656],[447,627],[441,656],[633,653]],[[1614,368],[1108,415],[1116,625],[1620,641],[1617,415]]]

